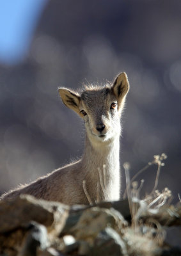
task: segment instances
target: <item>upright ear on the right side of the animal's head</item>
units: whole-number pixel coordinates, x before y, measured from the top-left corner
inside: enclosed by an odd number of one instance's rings
[[[129,92],[129,81],[125,72],[122,72],[116,77],[112,91],[118,100],[118,108],[120,108],[125,96]]]

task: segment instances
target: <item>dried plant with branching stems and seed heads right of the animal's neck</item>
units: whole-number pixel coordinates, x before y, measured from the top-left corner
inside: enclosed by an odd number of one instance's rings
[[[141,216],[146,214],[146,212],[158,212],[159,209],[168,202],[168,199],[171,198],[171,191],[168,188],[163,189],[161,192],[157,190],[159,175],[161,172],[161,166],[164,166],[162,161],[166,159],[166,154],[161,154],[161,156],[156,155],[153,156],[153,160],[148,163],[144,168],[139,170],[132,179],[130,179],[130,164],[124,163],[123,168],[125,170],[125,178],[126,178],[126,191],[123,195],[123,198],[128,198],[130,213],[132,217],[131,228],[134,232],[135,236],[146,236],[149,239],[152,239],[158,245],[162,244],[165,237],[165,232],[162,229],[161,225],[157,220],[153,218],[148,219],[145,223],[143,223]],[[157,174],[155,177],[155,184],[153,186],[152,192],[145,196],[145,198],[140,198],[140,191],[143,188],[144,180],[141,182],[136,181],[135,179],[139,174],[143,173],[149,166],[153,164],[157,164]]]

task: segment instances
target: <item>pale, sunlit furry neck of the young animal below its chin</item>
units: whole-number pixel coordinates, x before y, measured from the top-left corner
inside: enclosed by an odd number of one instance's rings
[[[82,159],[84,179],[89,194],[96,200],[118,200],[120,198],[120,134],[109,142],[92,143],[88,136]],[[104,187],[104,188],[102,188]],[[97,195],[97,189],[99,195]],[[99,196],[99,198],[97,198]]]

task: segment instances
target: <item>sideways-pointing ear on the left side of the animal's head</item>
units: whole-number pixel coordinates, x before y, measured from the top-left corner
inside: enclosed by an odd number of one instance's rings
[[[79,110],[79,104],[81,101],[80,95],[78,93],[72,92],[67,88],[58,88],[58,92],[65,106],[73,109],[79,116],[81,116]]]

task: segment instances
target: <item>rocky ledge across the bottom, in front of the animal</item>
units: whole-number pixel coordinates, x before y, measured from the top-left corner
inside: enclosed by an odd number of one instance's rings
[[[180,205],[70,207],[21,195],[0,202],[0,256],[181,255],[180,216]]]

